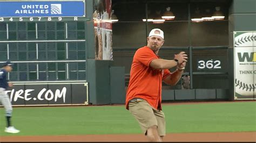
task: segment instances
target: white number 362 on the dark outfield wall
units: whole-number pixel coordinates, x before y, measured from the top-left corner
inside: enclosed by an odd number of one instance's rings
[[[208,60],[208,61],[204,61],[204,60],[200,60],[198,61],[198,69],[220,69],[220,61],[219,60]]]

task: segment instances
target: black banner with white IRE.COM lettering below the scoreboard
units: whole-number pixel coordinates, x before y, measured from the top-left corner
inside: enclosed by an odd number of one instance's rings
[[[6,90],[12,105],[87,105],[87,83],[25,83]]]

